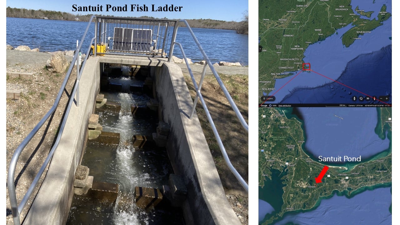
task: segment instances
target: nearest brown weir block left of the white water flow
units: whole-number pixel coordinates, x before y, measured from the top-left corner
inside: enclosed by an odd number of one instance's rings
[[[93,181],[88,195],[101,201],[114,202],[118,196],[118,184]]]

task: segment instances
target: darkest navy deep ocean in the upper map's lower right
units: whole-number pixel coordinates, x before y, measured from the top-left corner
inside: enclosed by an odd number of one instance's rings
[[[331,82],[315,88],[295,88],[281,102],[291,104],[316,102],[382,104],[382,102],[372,99],[360,102],[358,97],[391,96],[391,75],[392,46],[389,45],[376,52],[359,55],[347,64],[337,81],[348,87]],[[353,96],[357,97],[356,101],[352,100]],[[391,104],[392,99],[385,102]]]

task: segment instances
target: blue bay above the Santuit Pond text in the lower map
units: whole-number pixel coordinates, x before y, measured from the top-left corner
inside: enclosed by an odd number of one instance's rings
[[[376,108],[297,108],[304,120],[306,151],[318,158],[347,155],[361,160],[388,149],[375,133]]]

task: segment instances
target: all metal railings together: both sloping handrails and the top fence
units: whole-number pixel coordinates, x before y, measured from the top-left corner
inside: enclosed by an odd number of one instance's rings
[[[46,157],[46,160],[44,161],[43,165],[40,167],[38,174],[36,175],[36,177],[34,178],[34,180],[31,183],[30,187],[28,188],[28,191],[25,193],[21,202],[18,204],[17,199],[16,199],[15,184],[14,184],[15,170],[16,170],[16,165],[17,165],[18,159],[19,159],[22,151],[26,147],[26,145],[28,145],[28,143],[32,140],[34,135],[36,135],[36,133],[44,125],[44,123],[50,118],[50,116],[54,114],[54,112],[60,102],[62,93],[64,92],[66,84],[70,78],[74,64],[76,63],[78,65],[79,52],[80,52],[80,49],[82,48],[82,44],[86,38],[87,32],[89,30],[90,24],[93,19],[95,19],[95,21],[96,21],[94,38],[92,38],[92,40],[90,40],[89,48],[87,50],[86,57],[85,57],[84,61],[82,62],[82,66],[80,66],[80,67],[76,66],[76,83],[74,85],[71,97],[69,99],[68,106],[67,106],[67,109],[66,109],[66,112],[64,115],[64,119],[60,126],[58,135],[56,137],[56,141],[55,141],[52,149],[50,150],[48,156]],[[204,59],[206,61],[206,64],[204,65],[204,68],[203,68],[202,76],[200,78],[199,85],[197,85],[196,80],[192,74],[192,70],[190,69],[190,66],[188,64],[188,60],[186,58],[186,55],[182,48],[182,45],[178,42],[175,42],[176,33],[178,30],[177,25],[179,22],[184,22],[186,27],[189,29],[194,42],[196,42],[200,52],[203,54]],[[174,29],[173,29],[173,33],[172,33],[171,42],[169,44],[168,40],[170,38],[170,30],[172,27]],[[151,32],[149,30],[151,30]],[[125,37],[128,37],[128,38],[124,40],[124,32],[125,31],[126,31]],[[116,40],[116,38],[115,38],[116,36],[118,36],[118,40]],[[121,39],[121,37],[122,37],[122,39]],[[111,39],[112,39],[112,42],[110,41]],[[126,40],[128,40],[128,41],[126,42]],[[212,131],[216,137],[218,146],[220,147],[222,155],[224,156],[226,164],[228,165],[228,167],[230,168],[232,173],[235,175],[235,177],[240,181],[242,186],[246,189],[246,191],[248,191],[248,184],[240,176],[238,171],[236,171],[236,169],[233,167],[232,163],[229,160],[229,157],[226,153],[224,145],[222,144],[220,136],[218,135],[218,131],[216,130],[216,127],[211,118],[210,112],[208,111],[208,108],[206,106],[204,98],[201,94],[201,86],[202,86],[202,82],[204,80],[207,66],[210,68],[210,70],[214,74],[218,84],[222,88],[226,98],[228,99],[230,105],[232,106],[232,109],[234,110],[236,116],[238,117],[240,123],[242,124],[242,126],[244,127],[244,129],[246,131],[248,131],[248,125],[247,125],[246,121],[244,120],[243,116],[241,115],[240,111],[238,110],[236,104],[232,100],[232,97],[228,93],[228,90],[226,90],[226,87],[224,86],[218,73],[214,69],[214,66],[212,66],[210,59],[204,52],[202,46],[198,42],[196,36],[192,32],[192,29],[190,28],[190,26],[186,22],[186,20],[160,20],[160,19],[148,19],[148,18],[142,19],[142,18],[113,18],[113,17],[97,17],[96,18],[96,16],[92,16],[90,18],[90,22],[88,23],[88,26],[86,27],[86,30],[82,36],[82,39],[81,39],[78,47],[76,48],[76,52],[74,54],[74,57],[72,58],[72,62],[70,64],[70,67],[68,68],[68,71],[67,71],[64,81],[61,85],[61,88],[58,91],[58,94],[56,96],[53,106],[46,113],[46,115],[44,115],[44,117],[39,121],[39,123],[34,127],[34,129],[32,129],[32,131],[22,141],[22,143],[16,148],[16,150],[14,151],[14,154],[12,155],[10,165],[8,168],[7,189],[8,189],[9,199],[10,199],[10,206],[11,206],[11,212],[12,212],[14,225],[21,224],[20,213],[26,206],[26,203],[28,202],[28,199],[31,197],[31,195],[34,191],[34,188],[36,187],[36,185],[38,185],[40,178],[42,177],[46,167],[50,163],[50,160],[51,160],[52,156],[54,155],[55,149],[58,147],[62,133],[64,131],[66,120],[68,119],[68,115],[69,115],[69,112],[70,112],[70,109],[72,107],[72,103],[74,102],[75,97],[76,97],[76,107],[79,107],[80,76],[82,75],[82,71],[86,64],[86,60],[88,59],[88,57],[90,55],[90,51],[92,50],[91,45],[93,42],[94,42],[94,53],[93,53],[94,56],[96,56],[96,54],[140,55],[140,56],[150,55],[152,57],[162,57],[162,58],[166,58],[166,56],[168,56],[169,62],[172,60],[172,53],[174,50],[174,46],[175,46],[175,44],[177,44],[180,47],[180,50],[182,51],[182,55],[184,57],[186,66],[188,67],[188,71],[192,78],[194,88],[196,89],[196,98],[194,100],[194,104],[193,104],[193,107],[192,107],[192,110],[190,113],[190,119],[192,119],[194,110],[196,108],[197,101],[198,101],[198,99],[200,99],[200,102],[202,103],[204,111],[206,112],[208,121],[210,122],[210,125],[212,127]],[[104,49],[104,52],[101,52],[101,53],[97,52],[98,43],[106,46],[106,48]],[[167,52],[168,47],[169,47],[169,52]]]

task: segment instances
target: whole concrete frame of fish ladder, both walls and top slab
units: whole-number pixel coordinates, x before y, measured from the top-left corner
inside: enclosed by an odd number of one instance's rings
[[[195,114],[181,68],[163,58],[145,56],[90,57],[80,79],[79,107],[71,108],[64,133],[46,178],[24,224],[66,224],[74,197],[76,169],[88,140],[88,121],[96,108],[104,64],[146,66],[158,101],[158,119],[170,127],[166,151],[187,195],[180,205],[186,224],[236,225],[240,221],[228,203],[212,155]]]

